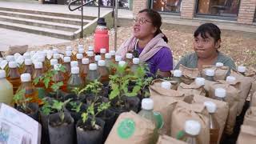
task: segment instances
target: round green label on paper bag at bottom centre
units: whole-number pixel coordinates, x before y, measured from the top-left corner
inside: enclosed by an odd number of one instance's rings
[[[122,120],[122,122],[118,125],[118,136],[123,139],[130,138],[135,131],[135,122],[130,119],[126,118]]]

